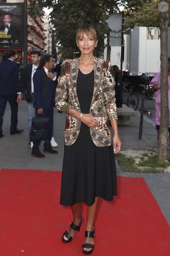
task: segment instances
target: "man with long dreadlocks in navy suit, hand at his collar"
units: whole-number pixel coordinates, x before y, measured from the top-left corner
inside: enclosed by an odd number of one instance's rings
[[[56,76],[50,72],[54,67],[54,60],[52,55],[45,54],[41,60],[37,71],[33,75],[34,84],[34,108],[35,115],[38,117],[49,117],[50,127],[49,127],[49,137],[44,143],[44,152],[51,154],[58,154],[57,151],[53,150],[51,147],[51,138],[53,131],[53,104],[55,98],[55,84],[57,82]],[[33,141],[33,148],[31,156],[38,158],[45,158],[40,152],[39,146],[41,141]]]

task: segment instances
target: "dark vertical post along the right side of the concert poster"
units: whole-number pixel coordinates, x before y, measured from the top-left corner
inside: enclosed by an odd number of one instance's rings
[[[23,10],[23,67],[27,66],[27,0],[24,0]]]

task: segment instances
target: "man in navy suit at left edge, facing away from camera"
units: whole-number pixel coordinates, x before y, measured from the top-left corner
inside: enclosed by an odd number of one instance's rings
[[[0,138],[2,134],[3,116],[7,101],[11,107],[10,134],[21,133],[17,129],[18,123],[18,103],[21,101],[21,92],[18,86],[19,67],[15,62],[16,51],[8,49],[4,52],[5,60],[0,63]]]

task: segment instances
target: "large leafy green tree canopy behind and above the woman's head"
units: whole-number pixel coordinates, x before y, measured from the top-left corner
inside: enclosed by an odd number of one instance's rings
[[[56,42],[61,45],[60,49],[69,49],[71,52],[77,52],[78,48],[75,43],[75,33],[77,30],[77,20],[83,19],[84,24],[93,24],[99,33],[99,39],[103,40],[104,34],[108,35],[108,59],[110,29],[108,28],[108,18],[114,12],[120,12],[119,6],[127,8],[127,13],[138,11],[147,0],[33,0],[29,6],[31,16],[41,15],[42,7],[53,7],[50,13],[51,24],[54,30],[53,36]],[[100,41],[99,40],[99,41]],[[100,57],[103,52],[102,47],[97,47],[97,55]]]

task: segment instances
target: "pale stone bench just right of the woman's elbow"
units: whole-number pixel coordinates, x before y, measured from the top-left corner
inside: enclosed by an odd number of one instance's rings
[[[135,116],[136,112],[127,107],[126,105],[122,105],[122,108],[117,108],[118,112],[118,125],[130,125],[130,116]]]

